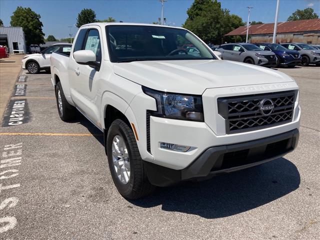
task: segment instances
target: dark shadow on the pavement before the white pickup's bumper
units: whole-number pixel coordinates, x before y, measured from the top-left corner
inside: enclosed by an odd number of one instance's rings
[[[159,187],[150,196],[130,202],[140,207],[219,218],[238,214],[282,197],[299,187],[300,174],[285,158],[211,178]]]

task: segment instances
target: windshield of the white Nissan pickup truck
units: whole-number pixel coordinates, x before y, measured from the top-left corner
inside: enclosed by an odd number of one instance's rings
[[[202,42],[184,29],[109,25],[106,34],[112,62],[216,59]]]

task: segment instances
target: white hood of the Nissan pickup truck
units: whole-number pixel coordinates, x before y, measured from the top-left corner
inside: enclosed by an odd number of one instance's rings
[[[293,81],[286,74],[228,60],[132,61],[113,65],[115,74],[168,92],[202,94],[206,88]]]

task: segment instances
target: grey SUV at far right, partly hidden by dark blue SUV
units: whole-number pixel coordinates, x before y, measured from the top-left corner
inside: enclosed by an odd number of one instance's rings
[[[309,63],[320,65],[320,50],[305,43],[286,42],[280,45],[290,50],[297,50],[301,55],[301,65],[307,66]]]

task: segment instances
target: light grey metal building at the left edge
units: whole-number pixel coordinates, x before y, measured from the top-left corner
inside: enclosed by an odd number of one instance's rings
[[[8,47],[8,52],[26,52],[24,32],[21,26],[0,26],[0,45]],[[14,50],[14,51],[13,51]]]

